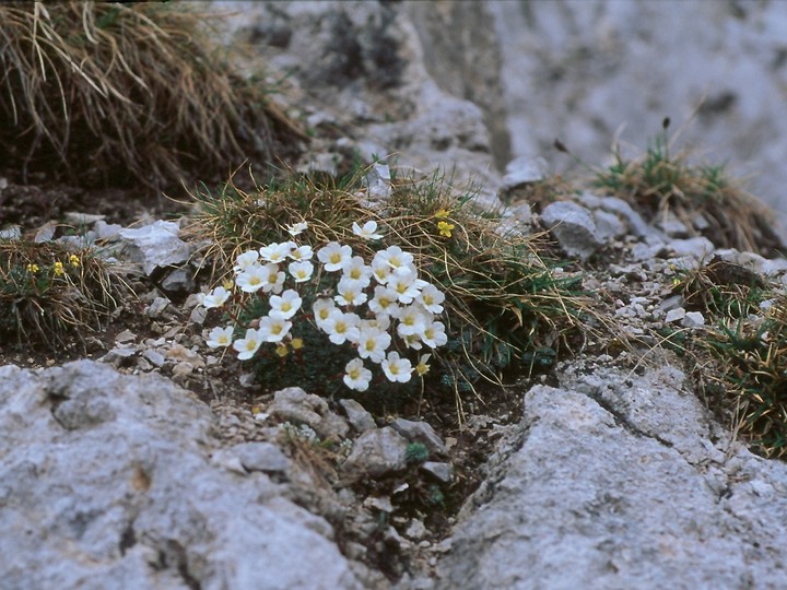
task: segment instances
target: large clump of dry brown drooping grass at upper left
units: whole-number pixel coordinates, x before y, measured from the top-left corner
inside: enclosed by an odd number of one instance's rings
[[[272,161],[295,128],[204,23],[180,2],[0,5],[0,161],[24,181],[153,188]]]

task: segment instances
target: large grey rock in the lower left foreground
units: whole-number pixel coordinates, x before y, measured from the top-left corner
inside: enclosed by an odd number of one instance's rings
[[[0,368],[0,586],[359,588],[325,520],[211,464],[211,421],[157,376]]]

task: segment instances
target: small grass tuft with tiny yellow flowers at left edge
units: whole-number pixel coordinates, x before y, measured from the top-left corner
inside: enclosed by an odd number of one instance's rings
[[[58,347],[99,330],[125,283],[91,250],[0,241],[0,340]]]

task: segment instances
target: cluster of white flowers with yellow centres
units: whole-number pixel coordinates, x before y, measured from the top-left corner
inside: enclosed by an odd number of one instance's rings
[[[295,237],[306,228],[302,222],[287,232]],[[376,233],[374,221],[363,226],[353,224],[353,232],[368,240],[383,237]],[[317,273],[315,255],[320,266]],[[292,335],[293,321],[299,314],[313,320],[333,344],[350,345],[357,352],[344,367],[343,382],[365,391],[373,379],[366,363],[378,366],[389,381],[408,382],[413,374],[426,374],[431,357],[422,354],[413,365],[408,351],[426,352],[448,340],[445,324],[437,319],[445,294],[419,279],[413,256],[398,246],[378,250],[367,264],[351,246],[338,241],[316,252],[293,240],[273,243],[238,256],[234,272],[232,284],[202,294],[200,303],[209,309],[224,307],[234,297],[233,287],[240,294],[232,300],[252,296],[266,299],[268,312],[242,327],[243,338],[234,339],[237,326],[214,328],[208,337],[208,346],[232,346],[242,361],[254,357],[265,343],[275,345],[280,356],[287,354],[287,345],[294,350],[303,346],[303,341]],[[298,290],[316,287],[317,276],[332,280],[333,286],[314,297],[310,310],[306,310]]]

